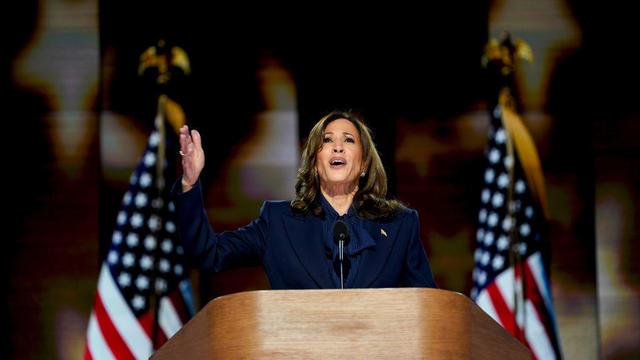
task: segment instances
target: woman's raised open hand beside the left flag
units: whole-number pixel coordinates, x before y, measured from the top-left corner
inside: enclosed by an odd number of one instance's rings
[[[187,125],[180,128],[180,155],[182,155],[182,191],[191,190],[198,181],[200,172],[204,168],[204,151],[202,138],[197,130],[191,130]]]

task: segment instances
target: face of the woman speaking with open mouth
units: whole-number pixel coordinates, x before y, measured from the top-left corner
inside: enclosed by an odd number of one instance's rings
[[[352,191],[362,172],[362,143],[358,129],[347,119],[331,121],[324,129],[316,170],[324,189]]]

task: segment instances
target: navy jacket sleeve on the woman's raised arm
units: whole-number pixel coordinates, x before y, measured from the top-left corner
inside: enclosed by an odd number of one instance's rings
[[[260,217],[235,231],[216,233],[204,207],[200,181],[181,192],[180,180],[173,187],[178,215],[178,232],[191,266],[215,272],[262,263],[268,231],[268,203]]]

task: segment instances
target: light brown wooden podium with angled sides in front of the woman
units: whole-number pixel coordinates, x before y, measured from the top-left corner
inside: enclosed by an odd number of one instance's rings
[[[209,302],[160,359],[531,359],[468,297],[424,288],[264,290]]]

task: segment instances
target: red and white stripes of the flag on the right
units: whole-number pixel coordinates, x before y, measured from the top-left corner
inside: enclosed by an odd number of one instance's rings
[[[542,280],[540,253],[527,258],[524,264],[526,291],[523,293],[519,268],[510,267],[485,287],[476,303],[496,322],[531,349],[534,359],[556,359],[550,334],[545,326],[544,312],[548,289]],[[515,276],[515,278],[514,278]],[[526,295],[526,299],[522,296]],[[515,313],[517,306],[517,314]]]

